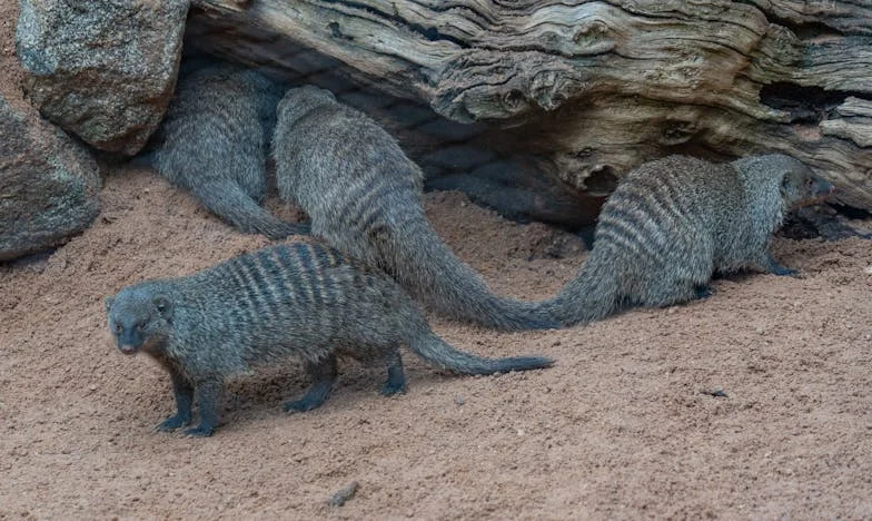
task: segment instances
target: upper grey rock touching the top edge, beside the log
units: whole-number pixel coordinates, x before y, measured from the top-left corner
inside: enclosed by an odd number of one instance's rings
[[[96,148],[136,154],[172,96],[188,3],[21,0],[30,101]]]

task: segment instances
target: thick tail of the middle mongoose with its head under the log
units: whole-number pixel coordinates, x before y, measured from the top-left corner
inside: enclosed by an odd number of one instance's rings
[[[419,207],[408,208],[418,210]],[[397,220],[405,220],[404,224],[383,230],[384,239],[393,242],[383,249],[395,259],[388,271],[404,287],[440,314],[485,327],[503,331],[559,327],[541,303],[495,295],[478,274],[448,249],[420,214],[409,219],[399,217]]]

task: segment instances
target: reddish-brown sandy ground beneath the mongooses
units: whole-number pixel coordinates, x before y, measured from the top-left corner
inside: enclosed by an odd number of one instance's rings
[[[4,63],[16,11],[2,0]],[[459,377],[407,354],[409,390],[385,399],[383,372],[347,363],[321,409],[289,415],[283,400],[307,385],[290,364],[232,383],[200,440],[152,432],[174,410],[168,377],[116,352],[102,299],[267,240],[148,170],[110,171],[101,199],[82,236],[0,266],[0,518],[872,517],[869,242],[779,239],[802,277],[719,281],[704,302],[587,327],[434,318],[463,350],[557,365]],[[547,297],[584,259],[574,238],[458,194],[428,195],[427,210],[507,295]]]

